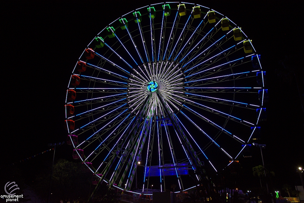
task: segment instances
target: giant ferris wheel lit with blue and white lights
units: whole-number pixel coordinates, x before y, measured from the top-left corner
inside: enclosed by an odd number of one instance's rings
[[[199,168],[222,170],[258,135],[264,82],[253,42],[226,16],[191,3],[145,6],[81,54],[67,88],[67,141],[95,184],[186,191]]]

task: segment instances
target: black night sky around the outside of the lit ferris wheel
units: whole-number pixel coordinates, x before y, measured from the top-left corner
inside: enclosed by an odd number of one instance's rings
[[[1,164],[47,150],[47,143],[66,140],[65,92],[82,51],[109,23],[153,3],[158,1],[9,1],[1,6]],[[280,82],[276,69],[285,56],[303,57],[303,5],[292,1],[197,3],[226,15],[254,41],[270,94],[268,119],[261,124],[259,141],[267,144],[265,164],[275,171],[278,184],[299,184],[296,168],[304,167],[304,114],[295,81]],[[243,162],[249,170],[261,164],[259,149],[254,150],[254,157]],[[65,153],[71,150],[62,150],[58,156],[70,156]]]

